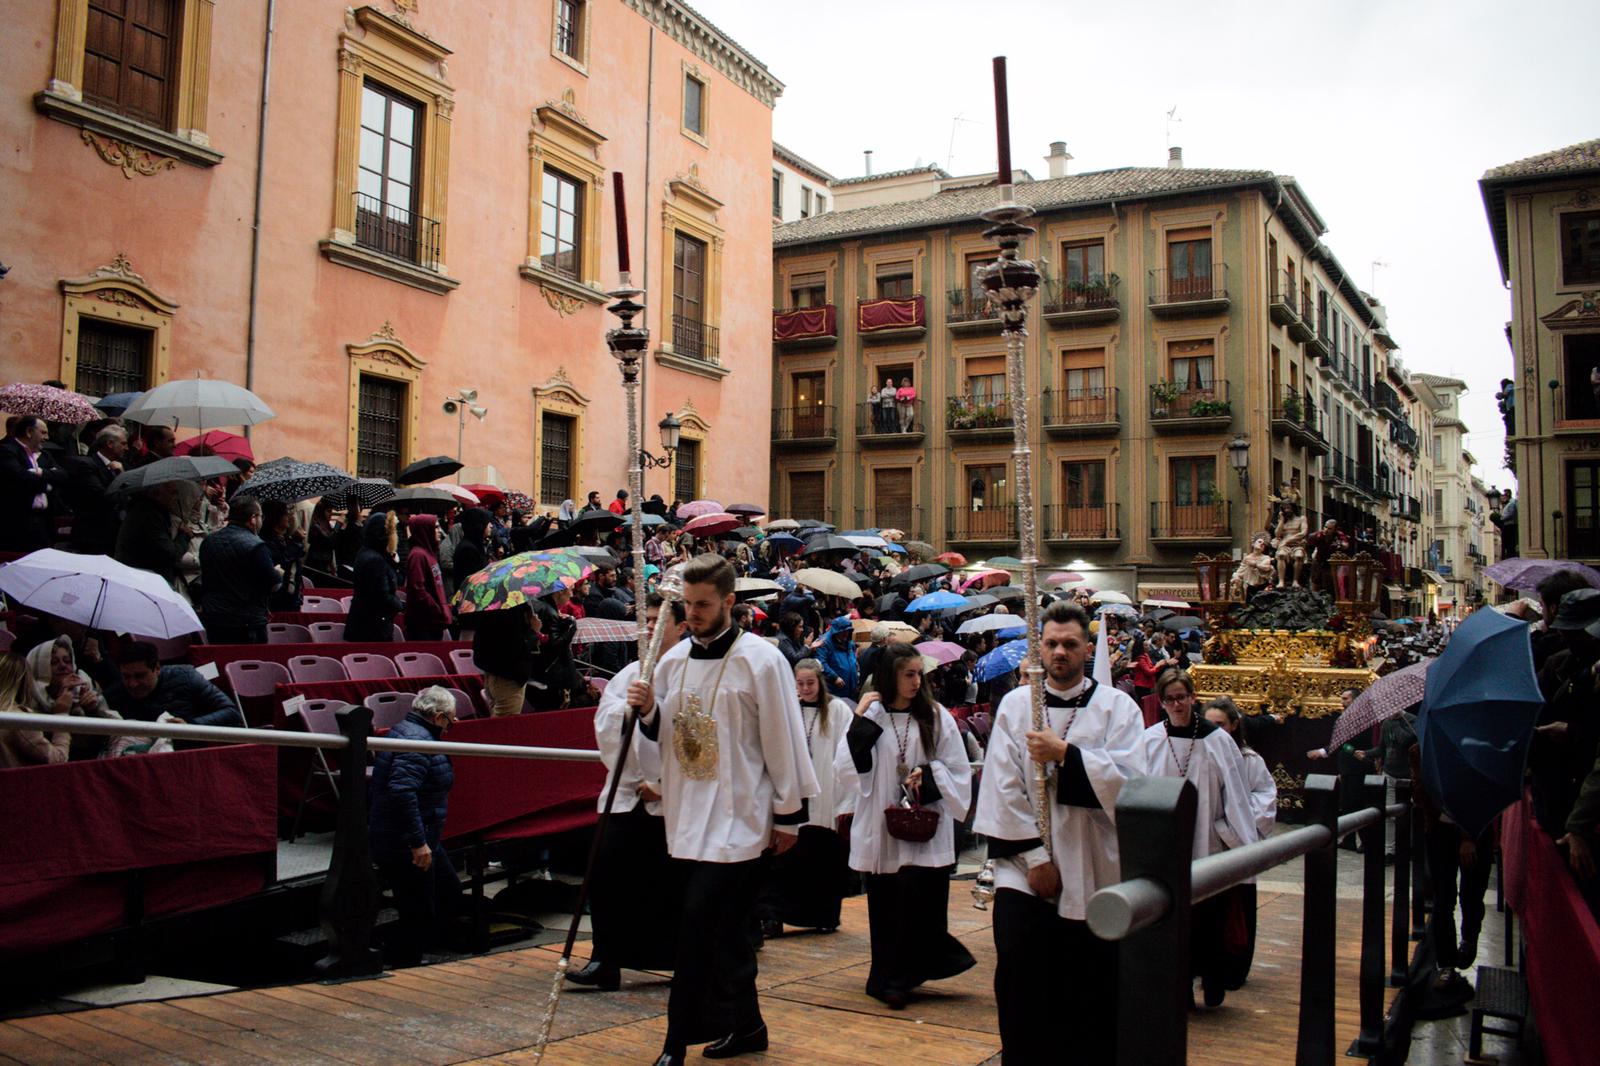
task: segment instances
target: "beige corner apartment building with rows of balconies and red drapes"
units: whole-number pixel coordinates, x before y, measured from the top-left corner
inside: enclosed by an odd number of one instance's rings
[[[1390,607],[1418,610],[1421,405],[1301,186],[1176,149],[1067,174],[1054,147],[1053,176],[1014,174],[1045,274],[1026,362],[1048,562],[1192,589],[1194,555],[1245,544],[1291,485],[1384,554]],[[832,211],[773,232],[774,512],[1014,551],[1005,346],[974,280],[994,174],[832,190]],[[880,405],[885,383],[915,400]]]

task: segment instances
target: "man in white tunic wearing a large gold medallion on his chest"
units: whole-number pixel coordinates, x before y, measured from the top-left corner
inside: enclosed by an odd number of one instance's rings
[[[766,1050],[755,996],[754,904],[768,848],[787,852],[806,821],[816,775],[794,674],[776,647],[731,623],[733,565],[696,555],[683,568],[691,640],[635,682],[646,739],[661,744],[667,850],[683,877],[667,1037],[658,1066]],[[651,892],[651,885],[640,885]]]

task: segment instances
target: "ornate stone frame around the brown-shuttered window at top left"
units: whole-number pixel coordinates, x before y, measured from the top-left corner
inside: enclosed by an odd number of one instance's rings
[[[173,128],[136,122],[83,99],[83,46],[88,40],[90,0],[56,2],[54,62],[50,83],[34,94],[34,107],[56,122],[83,130],[83,141],[101,158],[123,168],[123,176],[171,170],[171,160],[216,166],[222,154],[206,134],[211,91],[211,18],[216,0],[186,0],[178,27],[178,85],[173,90]]]

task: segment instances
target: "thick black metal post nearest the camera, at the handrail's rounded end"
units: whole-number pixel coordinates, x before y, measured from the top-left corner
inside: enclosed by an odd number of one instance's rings
[[[1166,916],[1122,941],[1117,980],[1117,1063],[1189,1060],[1189,863],[1195,787],[1178,778],[1133,778],[1117,797],[1122,877],[1166,887]]]

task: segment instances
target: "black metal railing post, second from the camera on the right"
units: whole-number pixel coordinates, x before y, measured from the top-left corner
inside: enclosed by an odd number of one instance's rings
[[[1304,795],[1306,824],[1325,826],[1328,844],[1306,853],[1301,1008],[1294,1066],[1333,1066],[1334,922],[1338,919],[1334,885],[1339,861],[1334,848],[1339,837],[1339,778],[1330,773],[1307,775]],[[1120,816],[1118,813],[1118,820]]]

